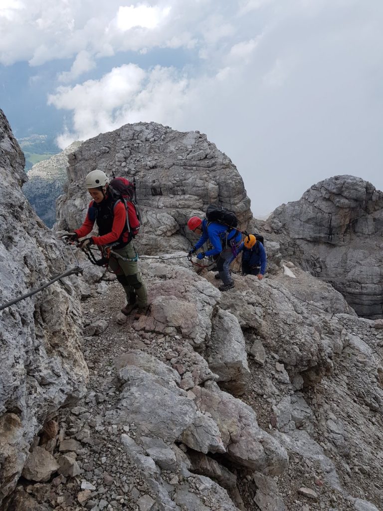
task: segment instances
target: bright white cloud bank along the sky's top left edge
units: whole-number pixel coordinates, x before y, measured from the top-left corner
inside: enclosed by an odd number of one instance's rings
[[[90,58],[151,48],[193,48],[205,35],[214,39],[229,25],[200,31],[202,22],[214,16],[210,2],[153,0],[154,5],[122,6],[120,0],[88,2],[18,0],[0,8],[0,64],[28,60],[37,66],[72,58],[86,50]],[[23,7],[23,8],[22,8]],[[197,36],[197,37],[196,37]],[[28,41],[26,43],[26,41]]]

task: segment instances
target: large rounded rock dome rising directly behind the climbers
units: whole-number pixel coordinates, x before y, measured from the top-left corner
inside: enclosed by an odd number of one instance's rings
[[[57,229],[81,225],[89,203],[84,178],[98,168],[135,179],[143,216],[141,253],[190,248],[190,215],[204,215],[219,203],[246,228],[252,218],[243,180],[230,158],[198,131],[178,132],[156,123],[127,124],[84,142],[69,155],[69,187],[57,204]]]

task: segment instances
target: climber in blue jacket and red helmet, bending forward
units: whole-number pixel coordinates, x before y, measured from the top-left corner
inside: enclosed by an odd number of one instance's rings
[[[199,217],[192,217],[188,220],[187,226],[200,239],[194,245],[189,254],[196,252],[206,241],[210,241],[212,248],[206,252],[197,254],[197,259],[203,259],[210,255],[219,255],[217,260],[217,269],[223,282],[219,286],[220,291],[227,291],[234,287],[234,282],[230,275],[230,263],[236,256],[236,250],[242,241],[242,234],[237,229],[230,229],[218,222],[208,222],[207,219],[201,220]],[[234,256],[234,257],[235,257]]]

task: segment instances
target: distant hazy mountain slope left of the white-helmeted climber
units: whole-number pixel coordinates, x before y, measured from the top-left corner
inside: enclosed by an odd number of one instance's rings
[[[68,180],[68,154],[80,146],[81,142],[74,142],[61,153],[39,161],[28,172],[28,181],[23,185],[22,191],[48,227],[56,222],[56,200],[63,193]]]

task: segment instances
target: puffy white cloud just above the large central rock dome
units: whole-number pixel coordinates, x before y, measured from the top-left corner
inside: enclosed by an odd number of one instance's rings
[[[74,131],[66,129],[58,143],[64,148],[130,122],[154,118],[166,124],[186,102],[186,87],[187,81],[172,68],[156,66],[145,72],[134,64],[113,68],[101,80],[59,87],[49,104],[73,111]]]

